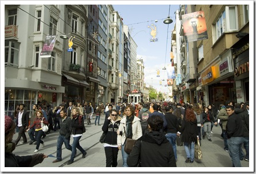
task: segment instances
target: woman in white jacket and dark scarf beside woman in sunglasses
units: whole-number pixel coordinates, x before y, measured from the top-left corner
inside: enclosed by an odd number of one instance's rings
[[[142,136],[141,120],[134,115],[133,106],[128,105],[125,108],[125,117],[120,121],[117,135],[118,149],[122,150],[123,167],[129,167],[127,165],[127,157],[129,154],[124,150],[126,137],[138,140],[139,137]]]

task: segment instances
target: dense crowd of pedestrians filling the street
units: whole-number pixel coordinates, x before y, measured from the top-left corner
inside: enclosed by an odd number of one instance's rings
[[[91,124],[94,113],[95,126],[100,126],[100,116],[105,116],[102,131],[106,133],[103,144],[106,167],[117,167],[119,151],[122,153],[123,167],[176,167],[176,161],[179,160],[177,146],[184,146],[187,156],[184,162],[193,163],[197,140],[200,145],[204,144],[202,139],[205,136],[208,141],[212,141],[212,130],[218,124],[222,128],[220,136],[223,137],[223,149],[229,153],[232,167],[241,167],[241,160],[249,161],[249,102],[234,104],[228,101],[219,107],[214,104],[203,107],[200,104],[193,106],[171,102],[139,102],[137,105],[118,102],[95,104],[94,109],[90,102],[82,107],[80,103],[75,105],[69,101],[67,105],[63,102],[54,108],[51,105],[34,104],[32,109],[29,116],[25,105],[17,106],[13,127],[18,127],[18,137],[13,143],[10,143],[12,140],[9,137],[6,148],[9,144],[19,145],[21,137],[23,141],[20,144],[26,144],[27,131],[29,145],[36,144],[36,153],[41,150],[40,144],[42,148],[45,147],[42,139],[46,135],[51,131],[59,131],[57,155],[52,163],[62,160],[63,143],[71,151],[68,165],[74,162],[77,149],[82,153],[82,159],[86,157],[87,152],[80,146],[79,141],[83,133],[86,133],[84,124]],[[47,132],[42,131],[41,123],[48,125]],[[130,153],[125,151],[127,138],[136,140]],[[9,153],[10,151],[6,151],[5,156],[8,158]],[[47,156],[40,157],[41,163]]]

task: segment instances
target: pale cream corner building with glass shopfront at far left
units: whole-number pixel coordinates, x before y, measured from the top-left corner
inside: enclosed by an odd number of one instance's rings
[[[32,110],[33,104],[62,102],[63,16],[63,5],[5,5],[5,110],[9,116],[18,104]],[[41,58],[47,35],[57,35],[55,46],[51,56]]]

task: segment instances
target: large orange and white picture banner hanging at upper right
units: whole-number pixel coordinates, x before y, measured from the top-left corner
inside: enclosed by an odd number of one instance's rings
[[[182,15],[186,42],[208,39],[204,11]]]

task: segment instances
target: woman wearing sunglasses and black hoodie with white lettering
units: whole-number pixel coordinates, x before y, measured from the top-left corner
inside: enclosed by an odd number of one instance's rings
[[[118,145],[117,131],[121,117],[115,109],[111,110],[110,116],[104,121],[102,131],[106,132],[104,150],[106,155],[106,167],[117,167]]]

